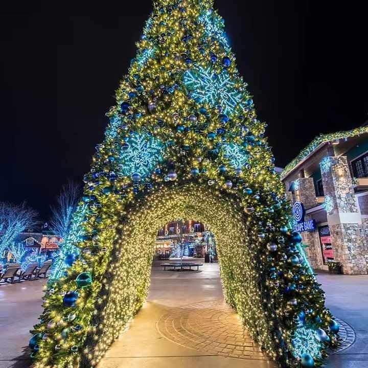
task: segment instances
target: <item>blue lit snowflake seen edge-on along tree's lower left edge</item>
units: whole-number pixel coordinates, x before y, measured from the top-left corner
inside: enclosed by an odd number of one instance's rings
[[[82,222],[88,213],[88,206],[86,203],[81,204],[77,207],[75,213],[73,214],[73,219],[70,227],[70,231],[65,239],[60,243],[58,255],[52,265],[52,272],[49,278],[49,283],[54,280],[60,279],[67,267],[65,264],[65,258],[67,255],[75,254],[79,255],[79,248],[76,245],[84,235],[84,227]]]

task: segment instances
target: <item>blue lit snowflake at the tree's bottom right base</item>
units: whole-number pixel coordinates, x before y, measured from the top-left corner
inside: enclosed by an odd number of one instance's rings
[[[323,344],[315,338],[315,329],[307,326],[294,330],[291,344],[293,346],[292,354],[295,357],[301,357],[303,354],[309,354],[313,358],[320,357],[320,350],[323,348]]]

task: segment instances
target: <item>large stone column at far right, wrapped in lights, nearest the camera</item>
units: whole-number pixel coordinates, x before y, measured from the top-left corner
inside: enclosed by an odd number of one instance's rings
[[[342,263],[345,274],[366,274],[367,239],[348,160],[345,156],[326,156],[320,169],[334,259]]]

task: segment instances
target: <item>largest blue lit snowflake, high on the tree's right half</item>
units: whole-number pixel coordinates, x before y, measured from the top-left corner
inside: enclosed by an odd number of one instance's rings
[[[226,114],[233,113],[237,106],[242,107],[242,94],[226,71],[216,74],[210,66],[206,69],[198,66],[183,74],[183,82],[197,103],[220,104]]]

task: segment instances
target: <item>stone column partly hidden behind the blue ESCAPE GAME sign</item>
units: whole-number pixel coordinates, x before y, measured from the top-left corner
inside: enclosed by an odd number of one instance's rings
[[[304,209],[308,210],[317,205],[317,199],[314,190],[313,178],[300,177],[294,181],[295,201],[300,201],[304,205]],[[311,216],[306,215],[305,220],[311,220]],[[320,245],[318,232],[303,232],[303,244],[307,245],[306,253],[309,264],[312,268],[320,268]]]

